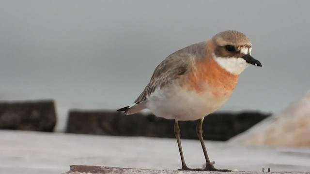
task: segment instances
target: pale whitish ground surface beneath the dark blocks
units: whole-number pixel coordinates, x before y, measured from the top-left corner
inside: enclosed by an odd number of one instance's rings
[[[189,167],[201,167],[202,148],[196,140],[182,140]],[[310,148],[268,148],[206,141],[217,168],[239,171],[310,171]],[[112,137],[0,131],[0,173],[61,174],[69,165],[178,169],[174,139]]]

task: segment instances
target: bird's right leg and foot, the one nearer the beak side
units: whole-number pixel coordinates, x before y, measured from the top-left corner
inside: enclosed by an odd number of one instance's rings
[[[205,148],[203,137],[202,137],[202,123],[203,123],[203,119],[204,118],[200,119],[199,123],[196,126],[197,136],[198,136],[198,138],[200,140],[200,143],[202,144],[202,150],[203,150],[204,158],[206,160],[206,165],[205,165],[205,168],[203,170],[204,171],[231,172],[230,170],[227,170],[227,169],[216,169],[213,166],[213,164],[211,163],[211,161],[209,160],[207,149]]]

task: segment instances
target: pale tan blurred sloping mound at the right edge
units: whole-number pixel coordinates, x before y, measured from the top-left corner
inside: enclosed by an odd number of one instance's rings
[[[247,145],[310,147],[310,91],[283,112],[230,140]]]

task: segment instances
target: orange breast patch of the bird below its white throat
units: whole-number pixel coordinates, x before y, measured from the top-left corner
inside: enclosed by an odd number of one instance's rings
[[[189,75],[187,89],[198,93],[208,90],[215,96],[230,96],[238,79],[239,75],[228,73],[213,58],[206,58],[196,62]]]

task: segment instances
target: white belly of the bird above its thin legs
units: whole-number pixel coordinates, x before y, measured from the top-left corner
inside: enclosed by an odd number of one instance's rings
[[[181,87],[156,89],[148,97],[147,108],[155,116],[180,121],[197,120],[215,112],[228,97],[218,98],[210,91],[196,93]]]

